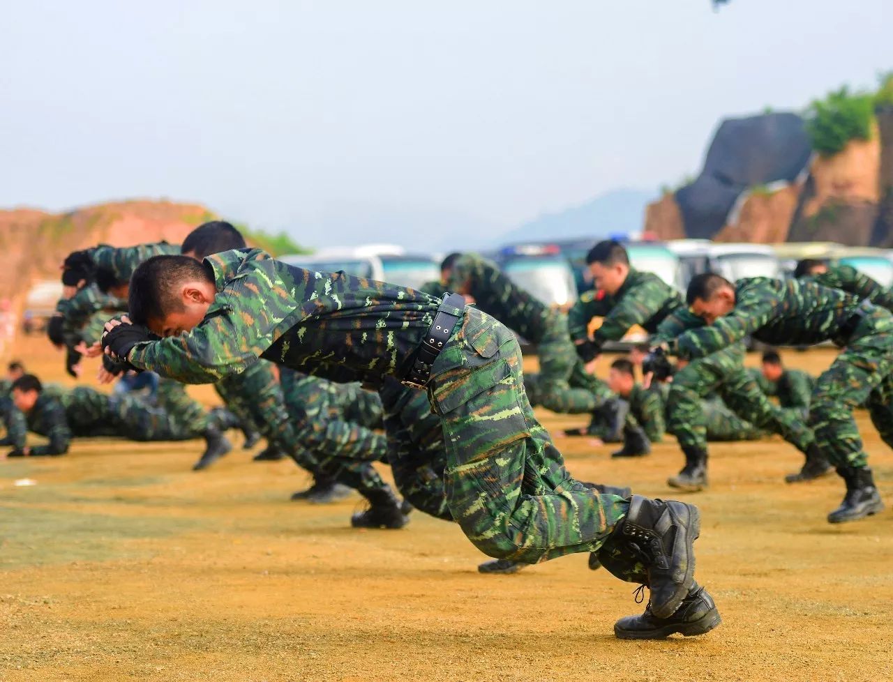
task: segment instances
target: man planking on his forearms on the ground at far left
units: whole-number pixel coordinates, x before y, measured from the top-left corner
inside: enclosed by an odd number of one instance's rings
[[[7,456],[61,455],[72,437],[113,436],[137,441],[187,440],[203,434],[189,430],[159,408],[149,408],[129,395],[113,396],[77,387],[61,396],[48,395],[33,374],[13,384],[13,403],[24,414],[28,428],[49,438],[47,445],[15,445]]]

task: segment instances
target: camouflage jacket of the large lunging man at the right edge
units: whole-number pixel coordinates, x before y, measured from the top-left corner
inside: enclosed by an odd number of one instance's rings
[[[752,336],[769,345],[814,345],[834,340],[859,308],[859,299],[815,282],[765,277],[739,279],[735,309],[676,339],[672,350],[699,358]],[[869,304],[870,305],[870,304]]]

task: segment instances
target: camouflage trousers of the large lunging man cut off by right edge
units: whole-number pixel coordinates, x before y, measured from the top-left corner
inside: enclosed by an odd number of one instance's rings
[[[816,445],[835,466],[868,463],[853,418],[863,403],[884,443],[893,447],[893,315],[880,307],[872,308],[819,377],[809,407]]]

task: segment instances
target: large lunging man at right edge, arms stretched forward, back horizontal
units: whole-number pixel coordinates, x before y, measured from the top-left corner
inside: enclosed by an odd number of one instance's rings
[[[772,345],[833,341],[844,349],[819,377],[809,410],[819,449],[847,486],[828,520],[858,520],[883,509],[853,409],[867,401],[880,437],[893,446],[893,315],[867,299],[797,279],[740,279],[733,285],[719,275],[698,275],[687,300],[706,326],[670,345],[680,357],[714,353],[748,334]]]

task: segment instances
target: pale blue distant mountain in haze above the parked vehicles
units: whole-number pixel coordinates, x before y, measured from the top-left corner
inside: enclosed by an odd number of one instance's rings
[[[500,244],[572,237],[607,237],[636,233],[645,224],[645,206],[657,193],[644,189],[613,189],[586,204],[544,213],[499,238]]]

